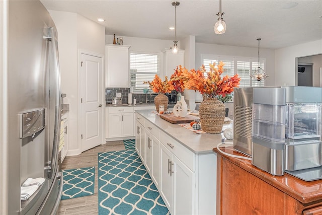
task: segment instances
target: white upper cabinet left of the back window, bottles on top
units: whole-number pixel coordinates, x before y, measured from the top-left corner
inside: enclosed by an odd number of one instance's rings
[[[130,47],[127,45],[105,45],[105,87],[130,87]]]

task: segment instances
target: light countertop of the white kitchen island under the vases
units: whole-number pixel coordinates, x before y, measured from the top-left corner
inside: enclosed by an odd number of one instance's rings
[[[212,149],[221,144],[221,134],[198,134],[194,133],[180,125],[172,124],[151,110],[135,110],[136,113],[142,115],[155,126],[163,130],[165,133],[179,141],[183,146],[196,154],[213,153]],[[228,141],[226,141],[228,142]],[[231,141],[230,141],[231,143]]]

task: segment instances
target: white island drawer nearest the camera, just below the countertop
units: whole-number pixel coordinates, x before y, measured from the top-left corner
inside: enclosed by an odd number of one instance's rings
[[[165,132],[160,131],[159,135],[161,144],[169,149],[192,172],[195,172],[195,154]]]

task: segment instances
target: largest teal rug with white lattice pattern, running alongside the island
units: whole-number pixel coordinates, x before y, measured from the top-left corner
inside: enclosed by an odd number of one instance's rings
[[[99,214],[170,214],[135,150],[99,153]]]

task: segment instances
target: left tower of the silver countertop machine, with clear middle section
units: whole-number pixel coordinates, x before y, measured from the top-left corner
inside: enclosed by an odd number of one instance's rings
[[[254,88],[252,164],[284,174],[285,89]]]

